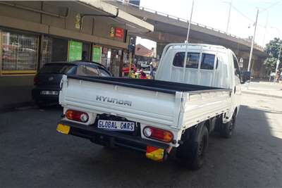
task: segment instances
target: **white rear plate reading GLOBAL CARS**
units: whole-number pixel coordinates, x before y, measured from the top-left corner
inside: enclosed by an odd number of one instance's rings
[[[134,131],[135,123],[128,121],[98,120],[99,129]]]

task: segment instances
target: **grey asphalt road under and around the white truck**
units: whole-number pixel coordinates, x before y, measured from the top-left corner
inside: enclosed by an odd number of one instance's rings
[[[2,113],[0,187],[282,187],[282,99],[242,101],[233,137],[212,134],[197,171],[59,134],[61,108]]]

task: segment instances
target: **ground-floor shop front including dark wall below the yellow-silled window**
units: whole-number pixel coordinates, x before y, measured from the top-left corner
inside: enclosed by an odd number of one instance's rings
[[[31,101],[33,77],[45,63],[93,61],[121,76],[124,49],[35,32],[0,30],[0,102]],[[22,95],[18,96],[18,92]],[[9,103],[9,102],[8,102]],[[7,104],[8,104],[7,103]]]

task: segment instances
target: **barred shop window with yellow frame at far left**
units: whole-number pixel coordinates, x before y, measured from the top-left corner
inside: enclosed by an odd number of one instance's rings
[[[17,32],[2,32],[2,71],[37,69],[38,37]],[[12,73],[12,72],[11,72]]]

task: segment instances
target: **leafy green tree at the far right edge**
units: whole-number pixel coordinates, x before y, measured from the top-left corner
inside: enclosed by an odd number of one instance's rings
[[[269,55],[269,58],[266,58],[264,61],[264,67],[269,72],[275,72],[276,63],[279,55],[280,46],[282,45],[282,40],[279,38],[274,38],[266,44],[264,51]],[[282,60],[282,56],[280,57],[280,62]],[[282,63],[279,64],[279,68],[282,68]]]

